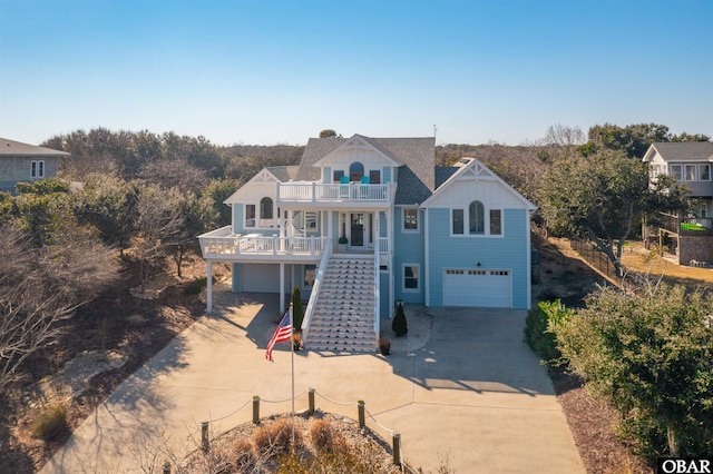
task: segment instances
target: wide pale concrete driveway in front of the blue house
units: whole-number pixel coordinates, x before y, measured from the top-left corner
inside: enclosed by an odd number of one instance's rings
[[[448,460],[456,473],[577,473],[584,467],[550,381],[522,343],[525,312],[429,308],[429,343],[402,355],[294,357],[295,409],[356,418],[387,441],[401,434],[402,457],[424,472]],[[279,322],[272,295],[216,295],[216,309],[125,381],[76,431],[42,473],[136,472],[194,450],[199,424],[217,435],[291,409],[286,344],[264,358]],[[282,347],[281,347],[282,346]],[[372,418],[373,417],[373,418]]]

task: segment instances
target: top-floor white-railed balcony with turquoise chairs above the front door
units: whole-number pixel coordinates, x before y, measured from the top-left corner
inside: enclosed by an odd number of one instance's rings
[[[362,205],[372,207],[385,207],[393,203],[395,182],[383,185],[345,182],[279,182],[277,203],[322,205]]]

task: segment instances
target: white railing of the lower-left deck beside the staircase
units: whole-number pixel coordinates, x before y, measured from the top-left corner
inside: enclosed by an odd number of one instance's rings
[[[280,237],[260,234],[233,234],[231,226],[198,237],[203,258],[232,259],[240,256],[320,256],[330,245],[329,237]]]

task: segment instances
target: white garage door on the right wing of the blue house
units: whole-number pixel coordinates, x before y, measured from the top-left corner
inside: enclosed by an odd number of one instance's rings
[[[445,269],[443,306],[512,307],[511,271],[500,269]]]

